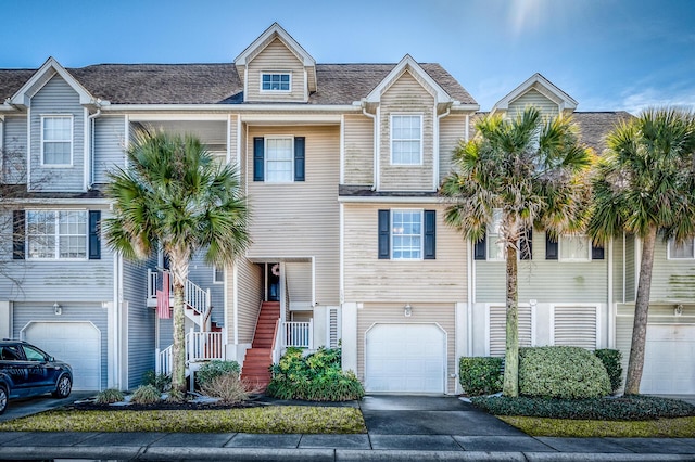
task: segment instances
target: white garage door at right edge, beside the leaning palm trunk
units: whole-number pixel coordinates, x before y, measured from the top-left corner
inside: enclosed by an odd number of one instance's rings
[[[695,325],[648,325],[640,392],[695,393]]]

